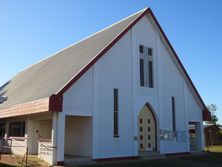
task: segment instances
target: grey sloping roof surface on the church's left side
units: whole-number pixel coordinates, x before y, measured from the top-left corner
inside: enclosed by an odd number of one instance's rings
[[[0,88],[0,109],[56,94],[144,11],[141,10],[18,73]]]

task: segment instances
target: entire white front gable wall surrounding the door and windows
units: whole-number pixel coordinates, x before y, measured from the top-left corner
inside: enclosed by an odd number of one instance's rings
[[[140,44],[153,48],[154,88],[140,87]],[[119,89],[118,138],[113,137],[114,88]],[[137,156],[134,137],[138,136],[139,111],[149,103],[157,131],[172,130],[171,97],[176,103],[176,130],[186,131],[187,140],[163,141],[157,134],[162,154],[190,151],[188,122],[201,122],[202,111],[171,51],[150,17],[145,16],[64,94],[63,111],[66,115],[92,116],[93,159]]]

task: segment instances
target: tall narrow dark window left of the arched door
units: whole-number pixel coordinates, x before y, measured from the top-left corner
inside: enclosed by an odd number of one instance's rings
[[[119,127],[118,127],[118,110],[119,110],[119,92],[118,89],[113,89],[113,101],[114,101],[114,112],[113,112],[113,134],[114,137],[119,137]]]

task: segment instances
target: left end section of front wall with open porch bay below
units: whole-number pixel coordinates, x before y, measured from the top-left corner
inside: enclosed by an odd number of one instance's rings
[[[92,156],[93,68],[63,95],[65,154]],[[62,156],[62,155],[61,155]]]

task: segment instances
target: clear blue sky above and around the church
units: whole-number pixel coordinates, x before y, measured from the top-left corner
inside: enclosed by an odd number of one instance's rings
[[[150,6],[222,123],[222,1],[0,0],[0,85],[17,72]]]

